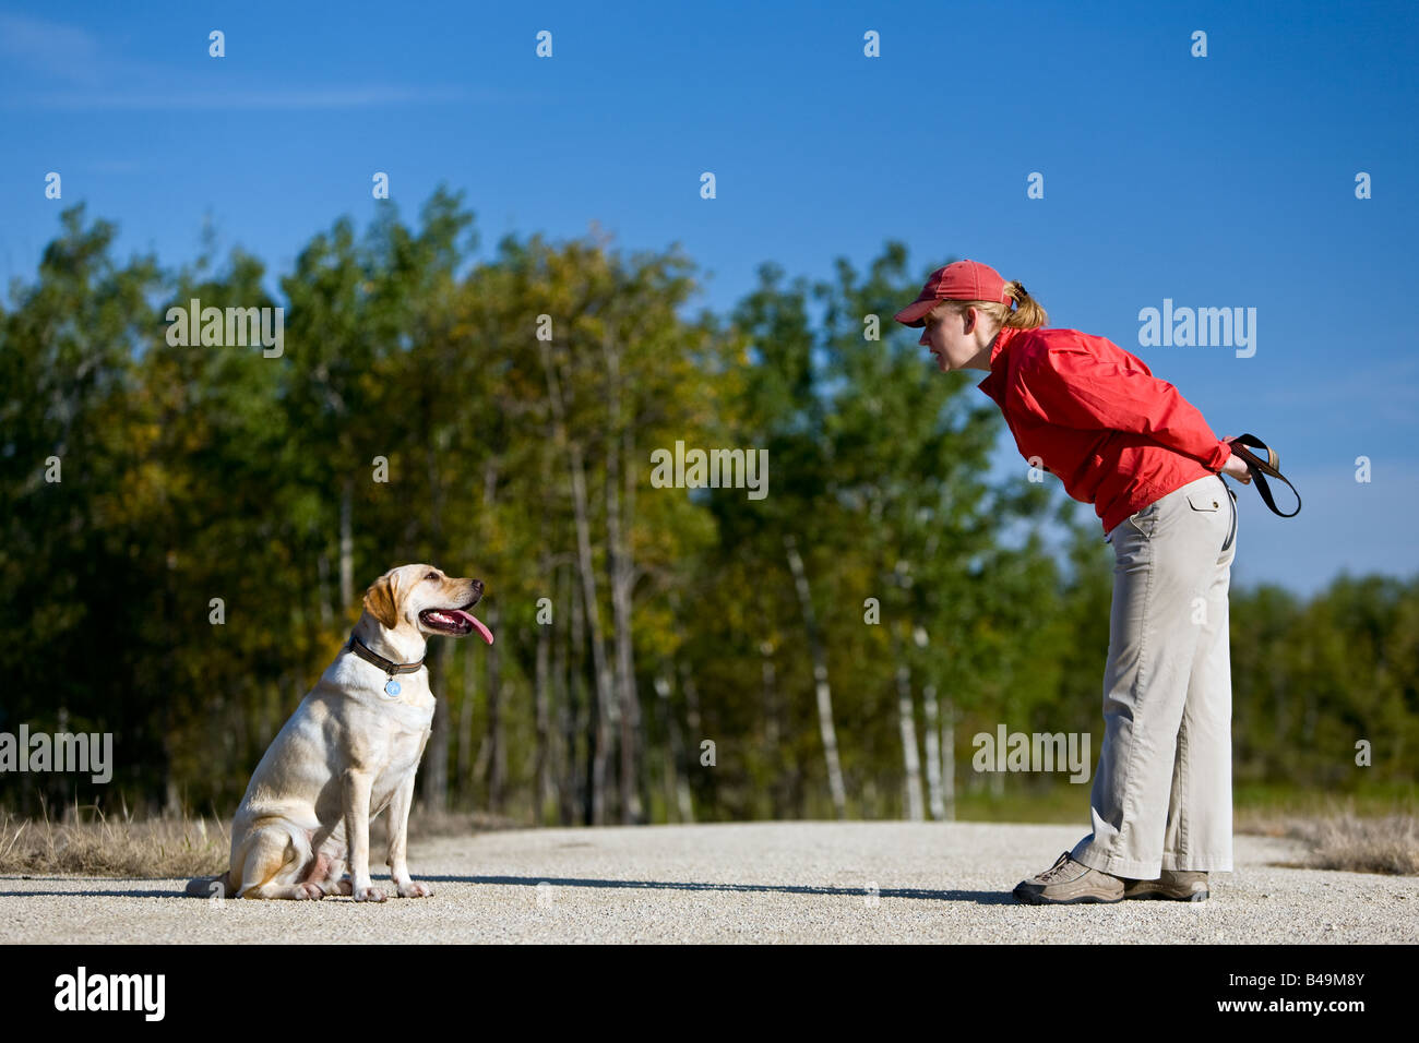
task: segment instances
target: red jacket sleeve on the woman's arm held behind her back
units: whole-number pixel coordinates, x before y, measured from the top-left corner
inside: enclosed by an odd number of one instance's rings
[[[1147,434],[1212,471],[1232,456],[1202,413],[1176,387],[1088,351],[1053,349],[1017,370],[1020,399],[1042,420],[1063,427]]]

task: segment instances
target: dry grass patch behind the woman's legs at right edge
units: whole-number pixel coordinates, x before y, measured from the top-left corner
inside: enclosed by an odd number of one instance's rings
[[[1257,810],[1239,815],[1237,833],[1290,837],[1310,847],[1300,868],[1419,874],[1419,816],[1395,810],[1361,816],[1354,802],[1330,800],[1320,812]]]

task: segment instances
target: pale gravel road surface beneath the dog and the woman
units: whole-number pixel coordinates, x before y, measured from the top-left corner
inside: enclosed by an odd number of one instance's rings
[[[7,876],[0,942],[1419,941],[1419,878],[1287,868],[1300,844],[1252,836],[1236,837],[1236,871],[1212,874],[1206,903],[1010,897],[1081,834],[897,822],[508,830],[414,840],[414,878],[434,894],[382,905],[217,903],[184,897],[184,880]],[[375,880],[393,891],[387,874]]]

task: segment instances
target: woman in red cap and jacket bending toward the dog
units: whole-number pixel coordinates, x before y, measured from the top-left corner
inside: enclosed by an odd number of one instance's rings
[[[1219,474],[1247,482],[1246,465],[1142,360],[1044,329],[1044,309],[989,265],[938,268],[895,318],[924,326],[942,373],[989,373],[981,390],[1020,454],[1094,504],[1117,559],[1093,833],[1015,897],[1206,900],[1208,871],[1232,870],[1236,505]]]

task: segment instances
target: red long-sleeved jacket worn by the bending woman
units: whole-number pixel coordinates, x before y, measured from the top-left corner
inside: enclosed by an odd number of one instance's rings
[[[981,390],[1005,413],[1020,454],[1094,504],[1104,532],[1232,456],[1142,359],[1077,329],[1003,328]]]

